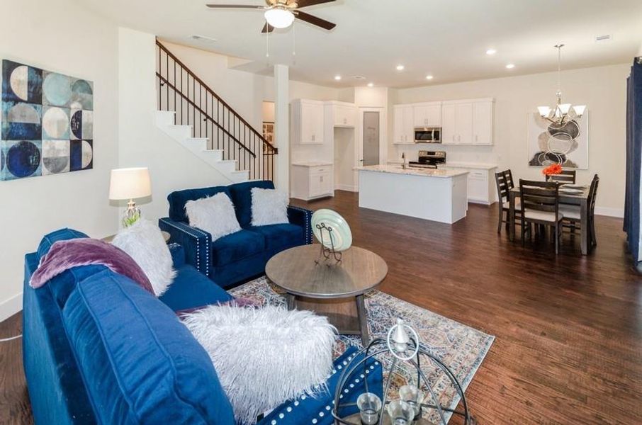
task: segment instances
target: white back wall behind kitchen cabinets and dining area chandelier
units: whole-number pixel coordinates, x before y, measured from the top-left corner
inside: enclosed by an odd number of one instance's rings
[[[621,215],[624,210],[626,77],[629,64],[573,69],[562,73],[563,98],[585,104],[589,111],[589,169],[578,170],[588,182],[599,174],[598,212]],[[528,166],[527,114],[555,101],[556,73],[533,74],[457,84],[391,90],[393,103],[495,98],[492,147],[441,145],[452,161],[488,162],[512,169],[516,179],[541,179],[541,169]],[[401,152],[417,156],[423,145],[390,145],[390,158]]]

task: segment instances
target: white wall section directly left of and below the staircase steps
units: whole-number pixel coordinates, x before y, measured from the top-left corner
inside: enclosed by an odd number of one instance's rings
[[[230,182],[157,128],[154,35],[120,28],[118,41],[118,162],[150,169],[152,197],[137,204],[142,216],[155,222],[167,217],[168,193]]]

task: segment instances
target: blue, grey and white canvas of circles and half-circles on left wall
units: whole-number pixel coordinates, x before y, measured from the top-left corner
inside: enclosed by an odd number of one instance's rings
[[[0,180],[94,166],[94,84],[2,60]]]

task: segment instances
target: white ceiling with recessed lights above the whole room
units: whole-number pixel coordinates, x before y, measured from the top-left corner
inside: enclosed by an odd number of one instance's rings
[[[304,9],[337,28],[297,21],[276,30],[267,40],[269,58],[261,11],[205,7],[264,0],[77,1],[120,26],[256,62],[247,69],[289,64],[292,79],[324,86],[407,87],[553,71],[558,42],[566,45],[564,69],[624,63],[642,46],[640,0],[337,0]],[[596,42],[598,35],[611,40]],[[489,48],[497,53],[486,55]]]

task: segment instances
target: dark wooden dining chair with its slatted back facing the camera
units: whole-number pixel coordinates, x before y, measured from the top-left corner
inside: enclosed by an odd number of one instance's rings
[[[559,210],[560,183],[557,181],[532,181],[519,179],[519,195],[522,198],[522,246],[528,225],[529,237],[531,224],[551,226],[555,233],[555,254],[560,251],[563,213]]]

